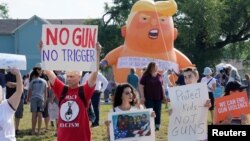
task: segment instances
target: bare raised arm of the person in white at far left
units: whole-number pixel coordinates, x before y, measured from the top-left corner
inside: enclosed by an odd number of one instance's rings
[[[16,91],[15,93],[8,99],[9,104],[14,108],[17,109],[21,96],[23,94],[23,82],[22,76],[19,70],[12,68],[10,72],[16,76]]]

